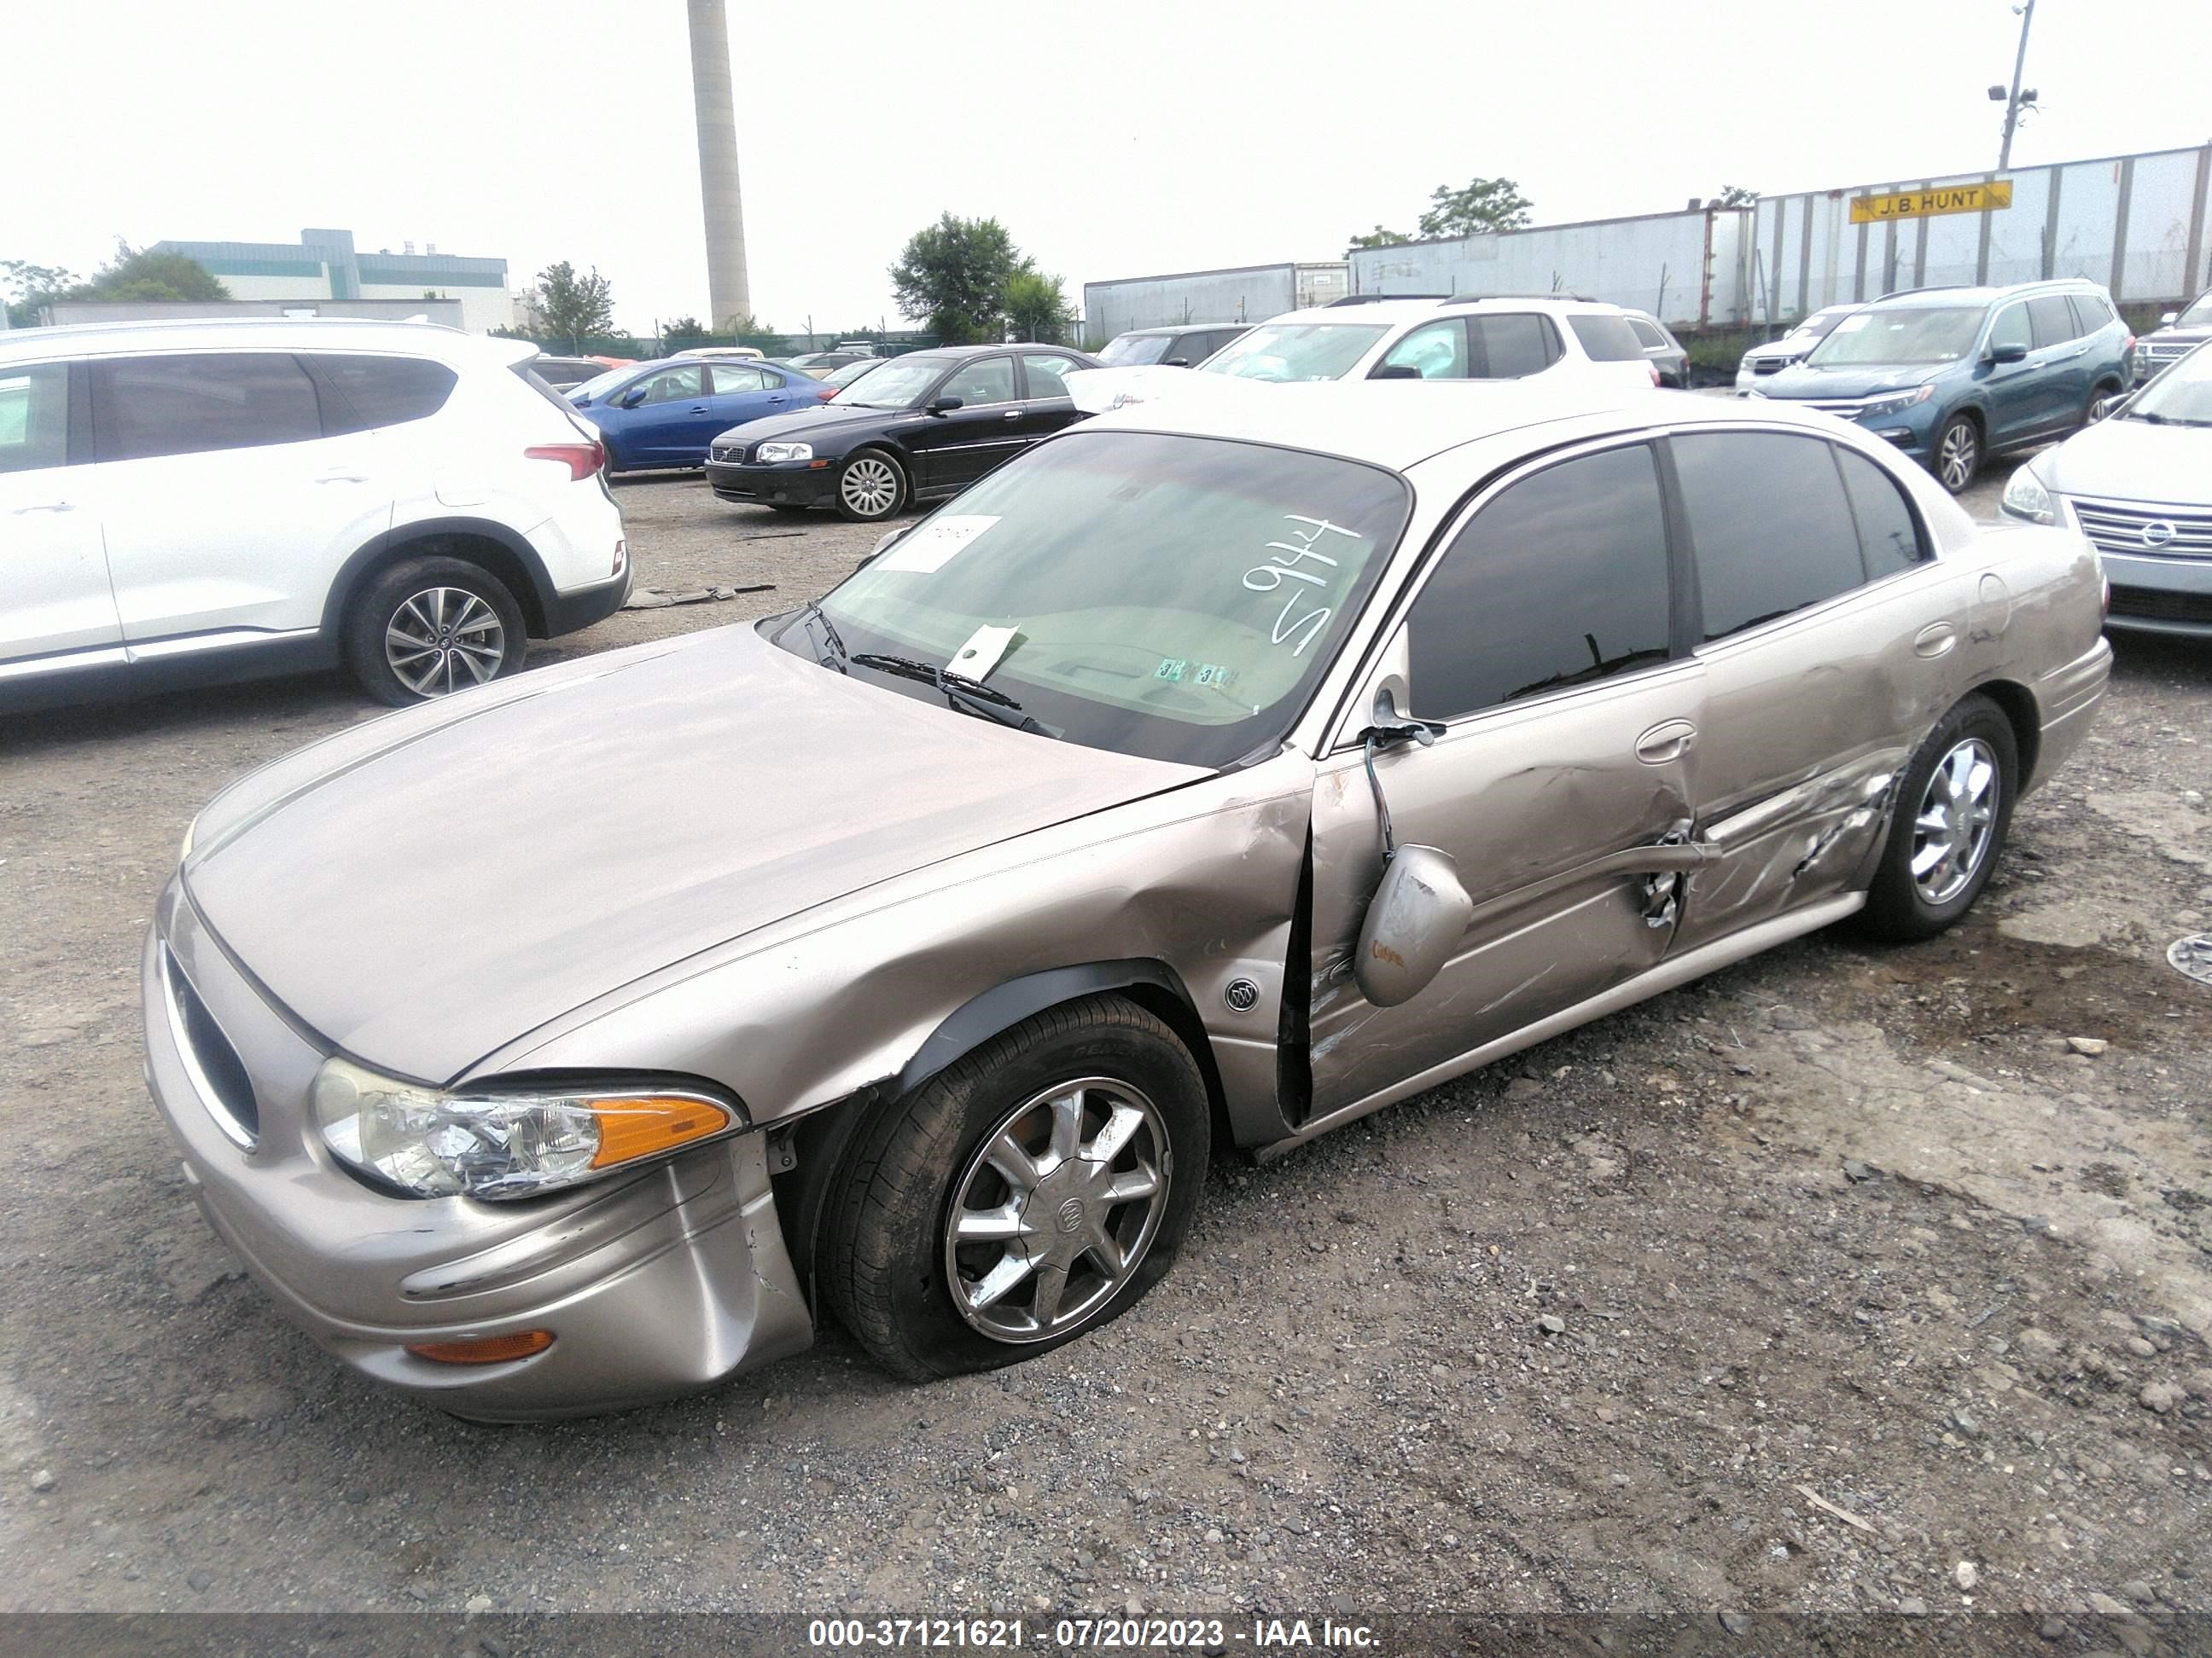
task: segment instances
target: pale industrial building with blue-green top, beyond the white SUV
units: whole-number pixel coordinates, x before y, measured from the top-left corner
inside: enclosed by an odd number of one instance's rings
[[[460,327],[471,334],[513,327],[515,321],[504,259],[440,254],[436,245],[416,252],[409,241],[400,252],[378,248],[365,254],[354,248],[352,230],[303,230],[296,243],[157,241],[153,252],[197,259],[232,298],[420,303],[436,296],[460,303]]]

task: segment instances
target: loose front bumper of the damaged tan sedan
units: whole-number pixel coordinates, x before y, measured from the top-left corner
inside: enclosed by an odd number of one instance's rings
[[[168,970],[237,1052],[252,1132],[210,1101],[215,1068],[192,1063]],[[761,1134],[524,1203],[392,1198],[332,1161],[307,1112],[323,1050],[230,964],[177,880],[142,990],[146,1085],[201,1211],[279,1309],[363,1375],[462,1417],[535,1421],[679,1397],[812,1344]],[[502,1364],[407,1351],[533,1329],[553,1344]]]

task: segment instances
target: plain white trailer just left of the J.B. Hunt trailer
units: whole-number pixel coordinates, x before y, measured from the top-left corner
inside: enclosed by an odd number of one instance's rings
[[[1356,294],[1586,294],[1672,327],[1734,327],[1750,294],[1750,208],[1356,248]]]

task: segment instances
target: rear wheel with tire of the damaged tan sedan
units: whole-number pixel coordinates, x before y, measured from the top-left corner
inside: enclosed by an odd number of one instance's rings
[[[1889,844],[1863,911],[1867,931],[1929,940],[1982,895],[2013,822],[2020,745],[1982,694],[1962,699],[1905,767]]]

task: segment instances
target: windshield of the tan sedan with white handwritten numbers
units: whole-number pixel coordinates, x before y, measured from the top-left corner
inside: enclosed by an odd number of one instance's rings
[[[978,648],[1015,721],[1219,767],[1290,730],[1409,508],[1396,473],[1334,455],[1075,431],[916,524],[821,612],[849,661]],[[814,657],[810,626],[796,612],[776,639]],[[927,679],[852,672],[942,701]]]

